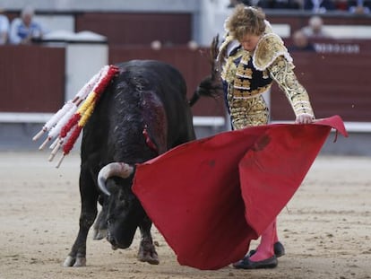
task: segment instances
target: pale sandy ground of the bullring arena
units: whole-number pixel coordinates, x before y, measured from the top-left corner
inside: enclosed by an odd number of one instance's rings
[[[320,155],[279,216],[287,255],[272,270],[180,266],[153,229],[160,265],[88,240],[87,266],[63,267],[80,213],[79,157],[59,169],[47,153],[0,153],[0,278],[371,278],[371,157]],[[257,242],[252,243],[252,248]]]

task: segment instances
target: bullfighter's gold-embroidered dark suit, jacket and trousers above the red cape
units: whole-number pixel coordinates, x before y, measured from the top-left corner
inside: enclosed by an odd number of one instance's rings
[[[262,93],[271,88],[273,81],[285,92],[296,116],[314,117],[306,89],[294,74],[292,58],[280,37],[270,29],[263,34],[253,53],[227,37],[220,46],[218,59],[234,128],[268,123],[269,112]]]

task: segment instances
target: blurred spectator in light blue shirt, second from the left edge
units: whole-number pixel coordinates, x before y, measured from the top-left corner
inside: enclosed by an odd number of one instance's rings
[[[10,28],[10,42],[16,44],[30,44],[33,39],[41,39],[43,29],[33,19],[34,10],[27,6],[22,10],[21,17],[13,19]]]

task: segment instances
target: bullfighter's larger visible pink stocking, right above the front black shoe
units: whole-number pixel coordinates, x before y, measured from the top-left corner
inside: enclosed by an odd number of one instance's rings
[[[264,259],[273,257],[273,245],[278,240],[276,219],[263,231],[260,244],[256,248],[256,252],[250,257],[251,261],[258,262]]]

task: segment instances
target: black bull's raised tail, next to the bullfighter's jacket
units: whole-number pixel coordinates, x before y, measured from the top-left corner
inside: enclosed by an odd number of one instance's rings
[[[217,64],[217,57],[219,54],[219,35],[212,39],[210,47],[209,63],[211,65],[211,74],[206,76],[197,86],[193,96],[189,100],[189,105],[192,107],[201,97],[216,98],[222,92],[222,85],[220,82],[220,69]]]

